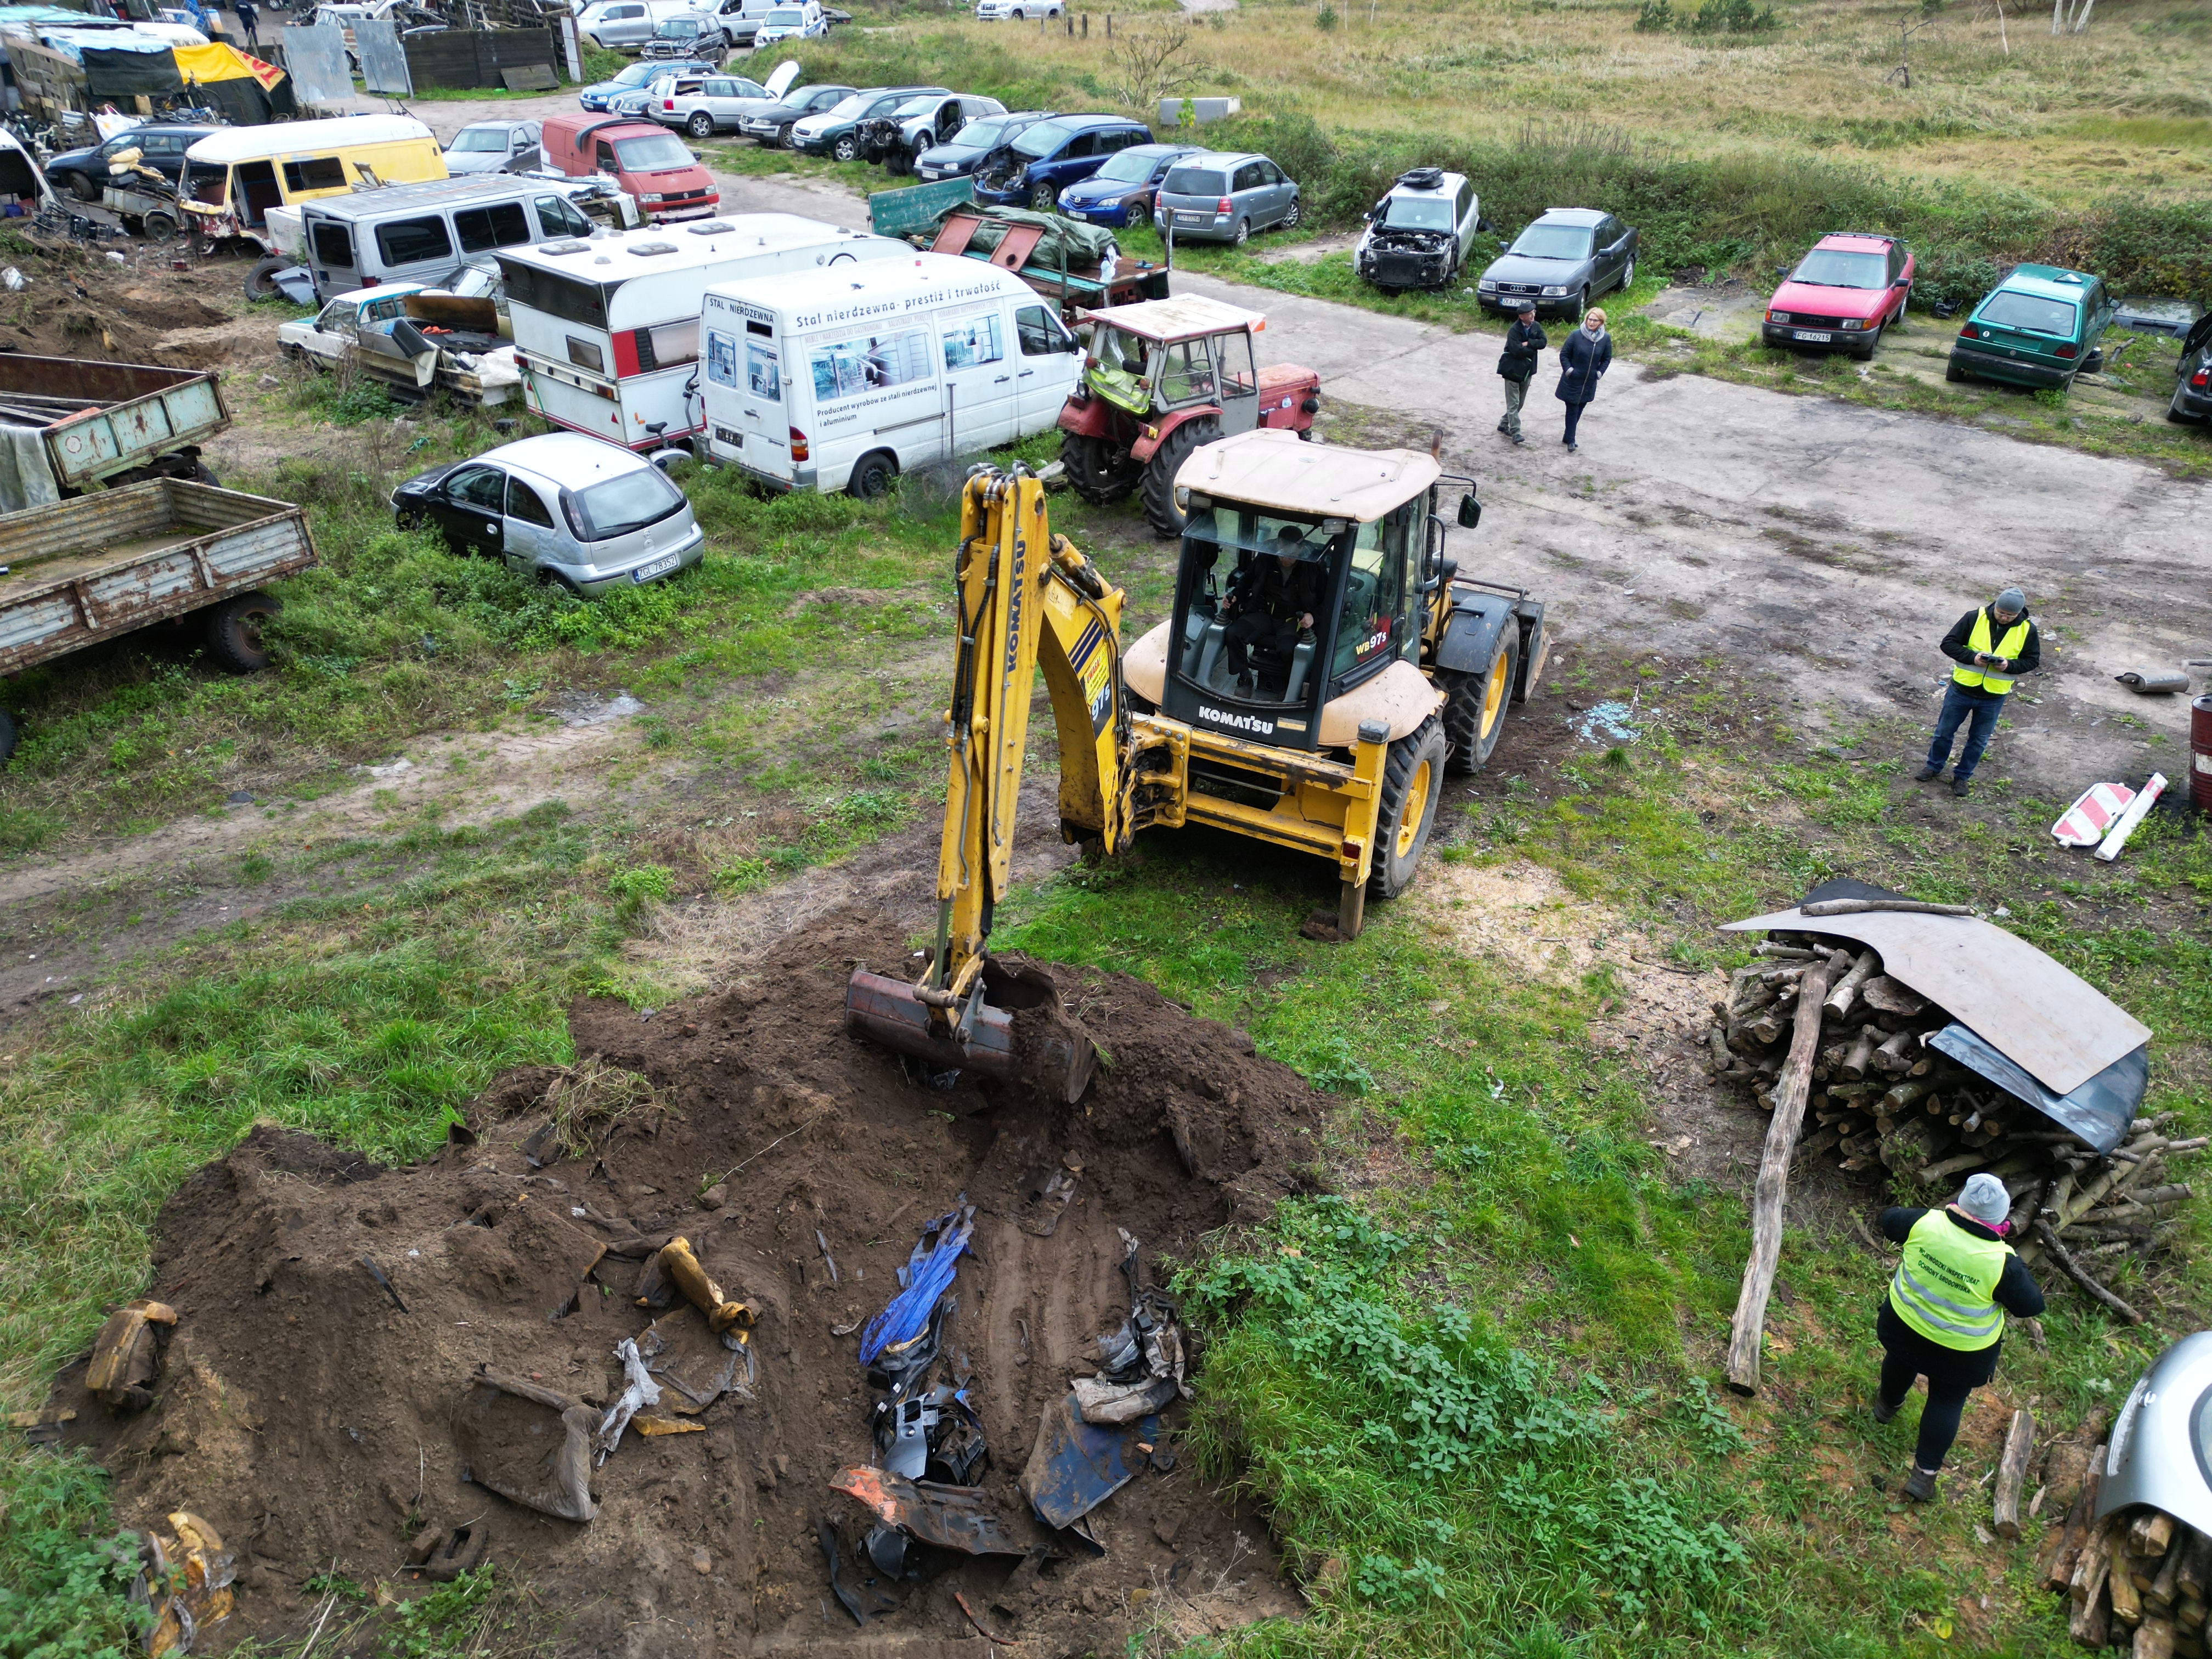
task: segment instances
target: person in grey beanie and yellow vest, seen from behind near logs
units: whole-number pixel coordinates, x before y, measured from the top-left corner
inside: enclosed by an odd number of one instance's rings
[[[2013,1197],[1995,1175],[1969,1177],[1942,1210],[1882,1210],[1882,1234],[1905,1245],[1905,1261],[1889,1279],[1874,1334],[1882,1340],[1882,1385],[1874,1420],[1889,1422],[1913,1389],[1929,1380],[1920,1409],[1920,1444],[1905,1495],[1936,1495],[1966,1396],[1997,1374],[2004,1316],[2035,1318],[2044,1292],[2004,1243]]]

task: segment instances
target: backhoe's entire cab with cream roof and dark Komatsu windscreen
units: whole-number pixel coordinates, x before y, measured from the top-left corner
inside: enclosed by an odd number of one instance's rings
[[[1168,719],[1294,750],[1340,750],[1363,721],[1411,730],[1442,699],[1422,635],[1442,586],[1436,460],[1254,431],[1199,449],[1175,613],[1126,679]]]

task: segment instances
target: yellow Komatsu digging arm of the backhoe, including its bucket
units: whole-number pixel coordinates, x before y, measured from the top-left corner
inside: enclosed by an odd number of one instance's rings
[[[845,1018],[887,1048],[998,1077],[1018,1075],[1020,1051],[1022,1075],[1073,1102],[1091,1079],[1091,1040],[1060,1013],[1051,980],[998,969],[987,940],[1013,874],[1040,668],[1060,737],[1062,823],[1110,852],[1128,845],[1121,591],[1108,588],[1064,535],[1053,535],[1044,484],[1013,467],[978,469],[967,480],[953,595],[936,951],[918,984],[856,971]]]

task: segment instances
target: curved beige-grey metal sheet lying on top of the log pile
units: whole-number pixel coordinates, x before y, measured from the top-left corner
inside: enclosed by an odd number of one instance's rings
[[[1798,907],[1728,922],[1728,933],[1829,933],[1871,945],[1882,973],[1911,987],[2053,1095],[2150,1042],[2150,1026],[2017,933],[1978,916],[1863,911],[1805,916]]]

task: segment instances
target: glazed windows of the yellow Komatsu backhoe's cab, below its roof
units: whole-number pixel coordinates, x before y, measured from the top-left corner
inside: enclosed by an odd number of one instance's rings
[[[1203,471],[1203,462],[1199,451],[1190,467]],[[1188,513],[1168,630],[1168,717],[1276,748],[1334,748],[1323,739],[1329,703],[1396,661],[1418,670],[1427,480],[1365,520],[1221,500],[1199,487]],[[1232,630],[1263,593],[1276,611],[1296,604],[1314,626],[1294,639],[1287,628],[1245,639],[1250,679],[1239,679]]]

